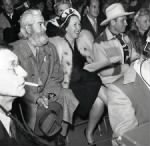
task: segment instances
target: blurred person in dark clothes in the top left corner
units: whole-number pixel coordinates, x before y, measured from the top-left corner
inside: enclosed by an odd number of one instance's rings
[[[2,0],[0,14],[0,42],[10,43],[18,40],[20,13],[14,9],[13,0]]]

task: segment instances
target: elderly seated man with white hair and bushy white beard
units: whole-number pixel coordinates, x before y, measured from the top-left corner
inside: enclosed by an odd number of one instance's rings
[[[27,81],[38,87],[27,87],[23,100],[25,120],[36,131],[36,114],[39,107],[48,108],[56,101],[63,106],[62,135],[66,135],[68,123],[72,123],[73,112],[78,101],[69,89],[63,89],[63,71],[55,47],[48,42],[44,18],[40,10],[26,10],[20,18],[20,39],[12,43],[22,67],[27,71]],[[54,96],[56,95],[56,96]]]

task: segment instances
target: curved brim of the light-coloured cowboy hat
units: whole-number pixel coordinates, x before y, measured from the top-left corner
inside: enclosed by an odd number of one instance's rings
[[[124,13],[120,13],[120,14],[118,14],[118,15],[116,15],[116,16],[112,16],[112,17],[110,17],[110,18],[105,19],[104,21],[101,22],[100,25],[101,25],[101,26],[104,26],[104,25],[108,24],[109,21],[111,21],[111,20],[113,20],[113,19],[115,19],[115,18],[117,18],[117,17],[127,16],[127,15],[132,15],[132,14],[134,14],[134,12],[124,12]]]

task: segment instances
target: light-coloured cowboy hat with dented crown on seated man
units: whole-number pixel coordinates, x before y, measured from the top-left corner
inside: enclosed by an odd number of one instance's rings
[[[114,3],[108,6],[105,10],[106,19],[101,22],[101,26],[106,25],[110,20],[121,16],[131,15],[134,12],[125,12],[125,9],[121,3]]]

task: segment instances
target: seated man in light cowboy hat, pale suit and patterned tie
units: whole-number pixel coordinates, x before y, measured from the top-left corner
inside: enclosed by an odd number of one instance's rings
[[[102,100],[108,106],[111,127],[116,136],[122,136],[146,119],[144,116],[146,112],[139,106],[141,91],[144,89],[138,86],[143,82],[132,66],[132,62],[138,56],[129,37],[124,34],[127,16],[133,12],[125,12],[120,3],[111,4],[105,12],[106,19],[101,25],[107,26],[94,44],[94,59],[109,63],[112,56],[120,58],[119,61],[116,59],[116,63],[110,63],[108,67],[102,69],[99,75],[107,86],[104,90],[107,97]],[[144,85],[142,87],[146,88]],[[141,119],[143,116],[145,118]]]

